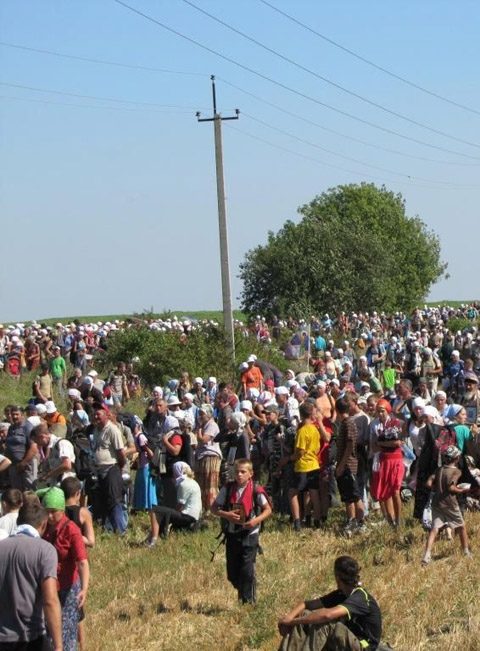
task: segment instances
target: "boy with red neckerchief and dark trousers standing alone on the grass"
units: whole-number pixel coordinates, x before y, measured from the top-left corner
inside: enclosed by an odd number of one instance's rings
[[[220,490],[212,505],[212,513],[226,521],[227,578],[244,604],[256,601],[255,558],[260,523],[272,513],[265,490],[254,485],[252,478],[252,463],[238,459],[235,481]]]

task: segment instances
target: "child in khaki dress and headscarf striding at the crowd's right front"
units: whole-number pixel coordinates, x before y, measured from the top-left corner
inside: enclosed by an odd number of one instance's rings
[[[463,553],[465,556],[471,556],[468,547],[467,529],[456,497],[468,492],[470,489],[470,487],[460,488],[460,486],[457,486],[462,474],[457,467],[461,454],[458,448],[449,445],[443,454],[443,465],[437,468],[435,473],[427,480],[427,487],[433,487],[435,495],[432,501],[432,530],[428,536],[422,560],[424,566],[430,563],[433,543],[438,532],[444,526],[449,526],[458,532]]]

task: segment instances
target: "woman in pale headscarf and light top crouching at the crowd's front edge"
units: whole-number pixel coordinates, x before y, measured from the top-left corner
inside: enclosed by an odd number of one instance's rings
[[[198,522],[202,514],[202,496],[200,486],[193,478],[193,472],[188,463],[177,461],[173,464],[173,477],[177,488],[177,508],[154,506],[152,511],[157,518],[159,533],[166,538],[170,529],[189,529]],[[155,544],[152,538],[150,546]]]

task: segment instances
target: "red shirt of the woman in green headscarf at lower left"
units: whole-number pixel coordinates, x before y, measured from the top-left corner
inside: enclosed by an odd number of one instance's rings
[[[80,578],[77,563],[87,560],[82,532],[63,514],[55,528],[47,529],[43,537],[57,550],[57,588],[68,590]]]

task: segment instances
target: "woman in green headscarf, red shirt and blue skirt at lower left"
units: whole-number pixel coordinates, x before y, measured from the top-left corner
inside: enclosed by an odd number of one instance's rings
[[[63,651],[76,651],[78,623],[87,598],[90,568],[82,532],[65,515],[65,495],[60,488],[37,492],[48,511],[43,535],[58,554],[57,585],[62,606]]]

